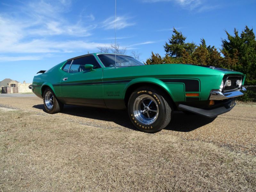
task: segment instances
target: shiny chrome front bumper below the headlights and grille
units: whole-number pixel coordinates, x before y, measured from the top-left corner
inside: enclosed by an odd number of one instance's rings
[[[242,87],[243,91],[246,91],[245,87]],[[226,92],[222,93],[220,91],[213,91],[210,95],[209,100],[223,100],[223,99],[230,99],[233,97],[239,97],[244,95],[244,93],[241,92],[241,89],[233,91],[233,92]]]

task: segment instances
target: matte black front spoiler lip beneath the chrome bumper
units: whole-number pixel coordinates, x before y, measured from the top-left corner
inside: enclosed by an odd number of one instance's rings
[[[213,118],[218,115],[221,115],[223,113],[227,113],[230,111],[233,107],[235,107],[236,103],[234,99],[230,99],[228,102],[226,102],[224,105],[215,107],[215,108],[208,108],[208,109],[201,109],[196,107],[191,107],[188,105],[179,104],[178,108],[186,111],[190,111],[192,113],[196,113],[201,116],[205,116],[208,118]]]

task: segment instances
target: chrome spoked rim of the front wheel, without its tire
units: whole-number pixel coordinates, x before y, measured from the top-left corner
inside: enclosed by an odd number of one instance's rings
[[[133,114],[142,124],[152,124],[158,117],[158,105],[150,95],[140,95],[133,104]]]

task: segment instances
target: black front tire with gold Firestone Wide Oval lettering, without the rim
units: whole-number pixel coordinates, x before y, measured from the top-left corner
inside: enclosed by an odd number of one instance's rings
[[[134,115],[133,112],[133,104],[134,101],[136,100],[137,97],[139,97],[140,95],[149,95],[151,96],[155,102],[158,105],[158,117],[156,119],[156,121],[152,124],[142,124],[138,118]],[[142,90],[142,89],[138,89],[135,92],[132,93],[132,95],[130,96],[129,102],[128,102],[128,113],[130,116],[130,119],[132,121],[132,123],[135,125],[135,127],[137,129],[139,129],[140,131],[143,132],[157,132],[160,131],[162,124],[164,124],[165,121],[165,111],[166,111],[166,107],[165,107],[165,102],[163,100],[163,97],[161,95],[159,95],[158,93],[156,93],[155,90]]]

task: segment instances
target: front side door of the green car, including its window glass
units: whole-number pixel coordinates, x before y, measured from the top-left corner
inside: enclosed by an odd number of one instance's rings
[[[92,69],[85,69],[91,64]],[[93,55],[76,58],[60,81],[61,100],[67,104],[105,105],[102,68]]]

